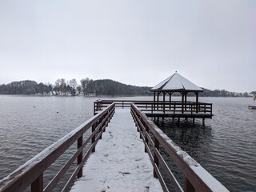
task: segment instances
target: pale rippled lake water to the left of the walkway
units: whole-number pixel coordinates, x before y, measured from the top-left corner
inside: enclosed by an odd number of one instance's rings
[[[93,102],[94,98],[83,97],[1,95],[0,179],[92,117]],[[45,183],[64,166],[75,147],[76,143],[46,170]]]

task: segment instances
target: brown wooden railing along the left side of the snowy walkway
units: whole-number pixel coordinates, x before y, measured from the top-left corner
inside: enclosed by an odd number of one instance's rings
[[[73,174],[71,174],[69,180],[62,189],[62,191],[68,191],[74,182],[74,178],[82,177],[82,166],[84,162],[86,162],[86,159],[89,158],[91,152],[95,151],[95,146],[98,140],[102,137],[102,132],[105,131],[108,122],[110,122],[110,119],[114,114],[114,109],[114,103],[112,103],[110,106],[107,106],[105,110],[102,110],[93,118],[90,118],[81,126],[78,126],[75,130],[71,131],[70,134],[66,134],[66,136],[59,139],[58,142],[47,147],[46,150],[43,150],[23,166],[14,170],[13,173],[0,181],[0,191],[23,191],[29,186],[31,186],[32,192],[52,191],[66,171],[69,170],[70,166],[77,161],[77,166],[75,167]],[[86,138],[86,141],[83,141],[83,135],[88,133],[88,130],[92,131],[89,133],[89,137]],[[65,166],[63,166],[46,187],[43,188],[43,174],[45,170],[68,150],[74,142],[77,142],[77,150],[74,151],[74,154],[68,159]],[[90,147],[83,156],[82,151],[87,144],[90,144]]]

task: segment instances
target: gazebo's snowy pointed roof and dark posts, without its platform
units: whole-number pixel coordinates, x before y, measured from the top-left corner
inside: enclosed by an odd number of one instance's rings
[[[194,85],[193,82],[190,82],[182,75],[178,74],[177,71],[175,74],[171,75],[169,78],[166,78],[164,81],[158,83],[150,91],[154,92],[154,102],[159,103],[159,95],[162,94],[162,102],[166,101],[166,94],[169,94],[169,102],[171,102],[171,95],[174,93],[180,93],[182,95],[182,112],[183,106],[186,107],[186,96],[190,92],[194,92],[196,95],[196,103],[198,103],[198,93],[202,92],[202,88]]]

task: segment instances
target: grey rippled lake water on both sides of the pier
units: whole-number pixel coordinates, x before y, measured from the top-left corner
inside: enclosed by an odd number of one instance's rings
[[[0,179],[92,117],[96,99],[0,95]],[[158,125],[230,191],[256,191],[256,110],[247,108],[252,98],[200,101],[213,103],[214,117],[205,127],[200,120],[178,126],[167,118]]]

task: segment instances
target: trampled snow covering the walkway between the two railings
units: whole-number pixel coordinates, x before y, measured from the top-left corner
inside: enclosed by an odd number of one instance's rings
[[[71,192],[162,191],[130,109],[116,109]]]

